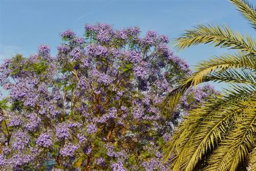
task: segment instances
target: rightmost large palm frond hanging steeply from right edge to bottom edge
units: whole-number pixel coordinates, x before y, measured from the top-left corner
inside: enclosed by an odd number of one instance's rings
[[[246,161],[255,146],[256,97],[244,103],[244,110],[234,118],[234,129],[218,145],[208,161],[210,170],[236,170],[241,161]]]

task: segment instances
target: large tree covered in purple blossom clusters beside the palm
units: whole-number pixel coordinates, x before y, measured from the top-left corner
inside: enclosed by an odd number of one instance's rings
[[[62,32],[56,57],[41,45],[0,67],[9,91],[0,102],[1,169],[167,170],[162,145],[173,125],[214,93],[209,86],[190,90],[165,117],[166,93],[190,74],[168,38],[106,24],[85,29],[84,38]]]

